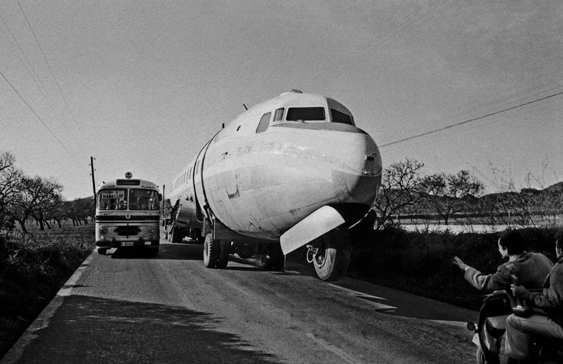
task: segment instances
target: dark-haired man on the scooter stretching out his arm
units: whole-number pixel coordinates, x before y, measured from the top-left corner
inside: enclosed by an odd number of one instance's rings
[[[508,262],[501,264],[497,272],[484,275],[458,257],[454,257],[453,263],[465,272],[465,279],[479,290],[508,289],[512,284],[512,272],[520,279],[521,284],[530,289],[540,289],[551,269],[551,260],[540,253],[528,253],[524,248],[525,241],[520,233],[506,230],[498,239],[498,251],[502,258],[508,258]]]

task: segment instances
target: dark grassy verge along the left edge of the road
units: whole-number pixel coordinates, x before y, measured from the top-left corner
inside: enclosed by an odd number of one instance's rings
[[[92,252],[94,224],[0,234],[0,358]]]

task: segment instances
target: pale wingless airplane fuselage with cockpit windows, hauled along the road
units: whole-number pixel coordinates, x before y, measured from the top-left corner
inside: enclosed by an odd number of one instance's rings
[[[242,236],[279,241],[322,206],[346,226],[368,212],[381,156],[339,102],[287,92],[240,114],[173,181],[179,224],[215,220]]]

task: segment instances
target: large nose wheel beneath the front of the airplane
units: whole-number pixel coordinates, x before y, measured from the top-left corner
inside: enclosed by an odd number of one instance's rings
[[[350,265],[348,232],[335,228],[312,242],[316,246],[313,265],[323,281],[336,281],[346,275]]]

